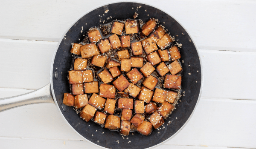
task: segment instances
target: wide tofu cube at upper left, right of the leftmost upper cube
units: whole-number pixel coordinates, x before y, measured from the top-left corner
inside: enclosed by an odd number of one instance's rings
[[[93,57],[94,55],[99,55],[99,49],[94,43],[89,43],[84,46],[81,46],[80,50],[81,56],[86,59]]]

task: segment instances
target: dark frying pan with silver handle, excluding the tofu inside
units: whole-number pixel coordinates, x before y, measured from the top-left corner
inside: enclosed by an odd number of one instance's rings
[[[109,11],[105,13],[106,10]],[[180,61],[183,62],[181,63],[183,67],[181,82],[182,96],[176,105],[176,109],[165,120],[164,128],[161,126],[162,129],[154,130],[149,136],[132,132],[133,135],[130,133],[127,140],[123,139],[118,132],[109,131],[91,120],[85,122],[79,118],[73,107],[62,104],[62,100],[63,94],[70,92],[67,73],[73,59],[70,54],[71,43],[79,43],[79,39],[84,38],[84,32],[92,26],[99,26],[103,20],[105,20],[105,23],[109,23],[116,19],[125,20],[127,18],[133,18],[134,12],[139,14],[136,19],[146,21],[151,17],[157,18],[160,24],[163,24],[168,29],[170,35],[175,36],[176,42],[182,44],[182,48],[180,48]],[[99,15],[102,17],[99,17]],[[108,17],[110,19],[107,20]],[[81,32],[81,26],[83,26],[83,32]],[[64,117],[64,120],[77,134],[96,145],[111,149],[149,148],[173,138],[191,118],[201,96],[203,80],[200,58],[196,46],[180,23],[166,12],[157,8],[131,2],[111,3],[101,6],[79,18],[58,43],[52,58],[50,76],[50,83],[41,89],[24,95],[1,99],[0,111],[32,103],[55,103],[61,116]],[[131,142],[128,143],[128,141]]]

